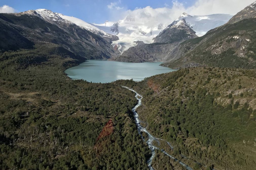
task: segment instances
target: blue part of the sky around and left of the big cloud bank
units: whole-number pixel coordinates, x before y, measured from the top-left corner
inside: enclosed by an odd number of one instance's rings
[[[180,2],[186,5],[192,4],[193,1],[180,0]],[[113,10],[118,13],[115,8],[108,8],[108,5],[111,3],[117,3],[120,8],[125,10],[134,10],[135,8],[143,8],[146,6],[151,6],[152,8],[160,8],[168,5],[169,7],[172,6],[172,1],[168,0],[1,0],[0,6],[8,5],[17,12],[45,8],[64,15],[74,16],[87,22],[101,23],[112,17]]]

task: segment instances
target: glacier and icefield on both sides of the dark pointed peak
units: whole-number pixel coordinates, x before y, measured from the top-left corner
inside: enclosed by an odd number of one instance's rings
[[[225,24],[232,16],[233,15],[229,14],[191,16],[183,13],[174,22],[179,23],[179,21],[185,20],[187,22],[187,25],[189,25],[191,29],[196,32],[196,35],[200,37],[210,29]],[[116,23],[106,21],[103,24],[94,25],[107,33],[116,34],[119,37],[119,40],[114,41],[112,45],[118,47],[118,50],[123,53],[128,48],[137,45],[136,41],[153,43],[154,38],[159,33],[161,33],[161,31],[163,31],[169,24],[156,23],[155,27],[147,27],[144,23],[136,22],[134,17],[127,15],[123,20],[119,20]]]

